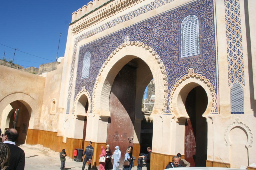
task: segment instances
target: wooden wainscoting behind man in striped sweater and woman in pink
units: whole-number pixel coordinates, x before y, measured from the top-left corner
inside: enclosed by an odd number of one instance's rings
[[[84,150],[88,146],[89,141],[84,141]],[[107,143],[97,143],[97,142],[92,142],[92,147],[94,149],[93,151],[93,156],[91,160],[92,167],[99,166],[99,159],[100,159],[100,154],[101,154],[101,146],[104,146],[106,149]]]

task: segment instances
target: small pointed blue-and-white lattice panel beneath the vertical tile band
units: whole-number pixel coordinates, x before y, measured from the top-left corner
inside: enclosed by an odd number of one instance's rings
[[[230,88],[231,99],[231,114],[243,114],[244,102],[243,102],[243,87],[240,83],[236,82],[232,84]]]

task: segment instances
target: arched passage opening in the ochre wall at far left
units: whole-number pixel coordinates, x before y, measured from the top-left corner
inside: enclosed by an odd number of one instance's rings
[[[28,105],[25,106],[21,101],[16,100],[9,103],[3,110],[2,119],[5,119],[5,130],[8,128],[13,128],[14,112],[19,109],[18,119],[15,129],[19,132],[18,139],[16,143],[24,144],[27,137],[27,130],[29,126],[30,115],[29,110],[31,108]]]

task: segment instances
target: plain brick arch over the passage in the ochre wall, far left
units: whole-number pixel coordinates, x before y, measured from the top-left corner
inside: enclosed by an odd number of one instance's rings
[[[4,108],[11,102],[13,101],[20,101],[22,102],[26,108],[28,109],[28,112],[30,114],[30,120],[29,120],[29,129],[39,129],[40,125],[40,109],[39,106],[34,98],[31,96],[22,93],[22,92],[17,92],[17,93],[12,93],[7,96],[5,96],[1,101],[0,101],[0,117],[2,116]]]

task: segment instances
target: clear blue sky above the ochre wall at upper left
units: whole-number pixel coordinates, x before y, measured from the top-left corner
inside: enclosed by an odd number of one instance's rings
[[[58,57],[64,56],[68,24],[72,13],[88,0],[54,0],[54,1],[1,1],[0,2],[0,44],[17,48],[37,58],[20,51],[16,51],[14,63],[23,67],[39,67],[41,63],[56,60],[59,35]],[[5,57],[12,60],[14,49],[0,45],[0,59]]]

